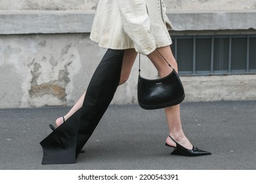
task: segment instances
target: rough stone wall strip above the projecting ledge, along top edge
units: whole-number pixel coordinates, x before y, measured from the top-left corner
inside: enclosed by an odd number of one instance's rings
[[[91,10],[98,0],[1,0],[0,10]],[[165,0],[170,10],[256,9],[255,0]]]

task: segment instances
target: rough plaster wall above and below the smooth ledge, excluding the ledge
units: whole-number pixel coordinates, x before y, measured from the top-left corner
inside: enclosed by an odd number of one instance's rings
[[[91,10],[96,8],[97,2],[1,0],[0,11]],[[168,10],[182,11],[256,8],[255,0],[165,0],[165,4]],[[89,40],[89,33],[0,35],[0,108],[74,105],[87,88],[105,51]],[[152,67],[149,62],[144,64],[146,68]],[[148,69],[144,76],[156,77],[157,73],[152,75],[152,71],[154,69]],[[128,82],[117,88],[112,103],[137,103],[137,76],[135,62]],[[255,77],[181,77],[181,80],[186,101],[251,100],[256,99]]]

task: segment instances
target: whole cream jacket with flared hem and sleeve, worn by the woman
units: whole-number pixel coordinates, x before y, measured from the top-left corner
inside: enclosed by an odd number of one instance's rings
[[[99,0],[90,39],[103,48],[148,55],[171,44],[163,0]]]

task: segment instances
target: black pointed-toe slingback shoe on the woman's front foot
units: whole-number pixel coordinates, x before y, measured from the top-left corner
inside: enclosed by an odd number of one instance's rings
[[[210,155],[211,152],[207,152],[204,150],[200,150],[196,146],[193,146],[193,148],[187,149],[181,146],[181,144],[177,143],[171,136],[169,136],[175,143],[176,143],[176,148],[171,152],[173,155],[180,155],[180,156],[205,156],[205,155]]]

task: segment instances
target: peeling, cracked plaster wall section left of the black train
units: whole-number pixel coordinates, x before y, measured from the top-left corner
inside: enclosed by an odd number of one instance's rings
[[[8,103],[9,107],[74,103],[95,70],[91,61],[99,61],[88,59],[95,48],[88,36],[0,36],[0,108]]]

